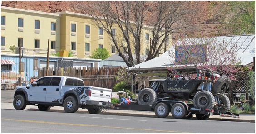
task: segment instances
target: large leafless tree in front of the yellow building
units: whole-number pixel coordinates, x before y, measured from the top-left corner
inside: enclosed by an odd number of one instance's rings
[[[153,59],[161,51],[167,50],[166,40],[172,33],[180,32],[188,27],[188,14],[193,12],[188,8],[192,6],[183,1],[77,1],[75,9],[82,10],[84,14],[94,18],[95,24],[109,34],[120,57],[128,67]],[[88,4],[87,4],[88,5]],[[151,31],[149,53],[142,59],[143,45],[142,30]],[[123,38],[116,38],[112,29],[118,27]],[[134,54],[133,54],[134,53]]]

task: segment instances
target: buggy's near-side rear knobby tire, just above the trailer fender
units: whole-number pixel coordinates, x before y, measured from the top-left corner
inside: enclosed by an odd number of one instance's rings
[[[212,109],[214,103],[214,96],[209,91],[199,91],[193,98],[195,108]]]

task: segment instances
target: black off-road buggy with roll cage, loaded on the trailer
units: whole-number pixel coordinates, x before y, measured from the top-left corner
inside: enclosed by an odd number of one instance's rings
[[[167,79],[150,80],[150,86],[138,94],[139,105],[154,105],[159,100],[192,101],[195,108],[214,109],[226,113],[230,101],[224,93],[229,77],[211,70],[178,68]]]

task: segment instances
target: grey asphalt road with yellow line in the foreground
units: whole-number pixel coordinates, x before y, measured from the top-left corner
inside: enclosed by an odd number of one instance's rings
[[[1,133],[255,133],[255,124],[1,109]]]

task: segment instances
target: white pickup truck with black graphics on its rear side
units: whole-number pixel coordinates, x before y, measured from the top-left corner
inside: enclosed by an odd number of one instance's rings
[[[13,106],[24,110],[26,105],[37,105],[40,111],[48,111],[52,106],[63,106],[68,113],[78,108],[88,109],[90,114],[99,114],[108,109],[111,89],[84,86],[84,81],[75,77],[41,77],[31,85],[18,86],[14,93]]]

